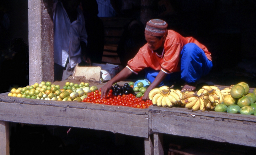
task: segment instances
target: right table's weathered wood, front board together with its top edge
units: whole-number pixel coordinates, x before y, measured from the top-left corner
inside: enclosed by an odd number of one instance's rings
[[[151,106],[152,131],[256,146],[256,116]]]

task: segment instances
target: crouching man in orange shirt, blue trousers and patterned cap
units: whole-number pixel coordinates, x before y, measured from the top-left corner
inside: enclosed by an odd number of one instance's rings
[[[144,93],[159,86],[171,86],[175,81],[186,82],[182,91],[193,91],[196,81],[212,69],[211,53],[193,37],[183,37],[173,30],[167,30],[167,23],[161,19],[152,19],[146,24],[147,44],[140,48],[137,55],[128,61],[128,65],[101,88],[105,97],[111,86],[125,80],[132,73],[138,74],[145,69],[145,78],[151,85]]]

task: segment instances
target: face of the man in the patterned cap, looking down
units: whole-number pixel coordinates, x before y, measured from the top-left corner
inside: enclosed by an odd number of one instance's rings
[[[156,36],[152,36],[152,35],[148,35],[148,34],[145,34],[145,39],[148,42],[148,48],[152,51],[158,50],[158,48],[160,48],[165,41],[164,37],[159,39]]]

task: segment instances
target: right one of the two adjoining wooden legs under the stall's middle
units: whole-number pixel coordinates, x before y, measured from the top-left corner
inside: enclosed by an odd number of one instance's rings
[[[164,155],[162,133],[154,132],[154,153],[155,155]]]

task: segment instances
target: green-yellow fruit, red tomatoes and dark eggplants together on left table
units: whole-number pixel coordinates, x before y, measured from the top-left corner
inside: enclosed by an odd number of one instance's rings
[[[133,82],[129,82],[130,85]],[[23,88],[12,88],[8,96],[22,97],[30,99],[44,99],[51,101],[77,101],[106,105],[119,105],[133,108],[145,109],[152,105],[151,100],[142,101],[140,97],[136,97],[134,90],[128,83],[123,86],[114,85],[106,98],[101,98],[101,89],[97,86],[89,86],[89,83],[81,82],[74,84],[66,82],[63,88],[59,85],[51,84],[51,82],[42,81],[31,86]]]

